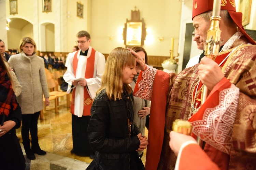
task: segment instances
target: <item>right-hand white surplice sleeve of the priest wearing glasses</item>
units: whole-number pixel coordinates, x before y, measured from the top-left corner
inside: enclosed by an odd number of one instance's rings
[[[98,56],[98,57],[96,57]],[[87,81],[87,90],[92,99],[96,96],[96,91],[101,86],[101,78],[105,70],[105,56],[98,51],[95,52],[95,65],[94,65],[94,77],[86,79]]]

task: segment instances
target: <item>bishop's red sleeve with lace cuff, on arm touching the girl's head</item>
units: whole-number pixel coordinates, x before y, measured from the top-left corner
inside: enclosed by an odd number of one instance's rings
[[[134,88],[133,95],[142,99],[151,100],[150,125],[148,130],[148,147],[146,154],[147,170],[157,169],[162,150],[165,130],[167,95],[171,75],[152,66],[141,71]]]

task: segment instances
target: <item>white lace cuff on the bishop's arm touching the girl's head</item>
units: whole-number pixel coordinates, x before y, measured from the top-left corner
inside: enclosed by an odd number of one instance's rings
[[[143,80],[138,82],[139,90],[134,94],[134,96],[145,100],[151,100],[155,76],[156,69],[147,65],[147,68],[142,72]]]

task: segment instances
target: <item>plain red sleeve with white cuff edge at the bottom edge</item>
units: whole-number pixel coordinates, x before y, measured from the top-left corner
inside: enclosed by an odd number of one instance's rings
[[[191,156],[192,155],[192,156]],[[219,170],[208,155],[193,141],[182,144],[174,170]]]

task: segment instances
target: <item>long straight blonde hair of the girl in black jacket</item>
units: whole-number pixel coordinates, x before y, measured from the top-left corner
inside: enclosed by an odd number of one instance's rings
[[[106,89],[106,94],[110,100],[122,99],[122,90],[128,93],[132,92],[129,84],[123,83],[123,68],[126,66],[134,66],[136,62],[135,56],[125,48],[117,47],[109,54],[105,71],[101,79],[101,87],[96,94],[101,90]]]

